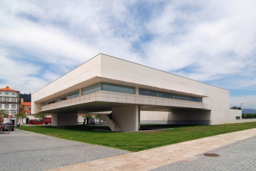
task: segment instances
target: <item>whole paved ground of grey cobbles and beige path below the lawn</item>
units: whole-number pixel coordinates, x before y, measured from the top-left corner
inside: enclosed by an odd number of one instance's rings
[[[256,128],[136,153],[22,130],[1,133],[0,170],[256,170]]]

